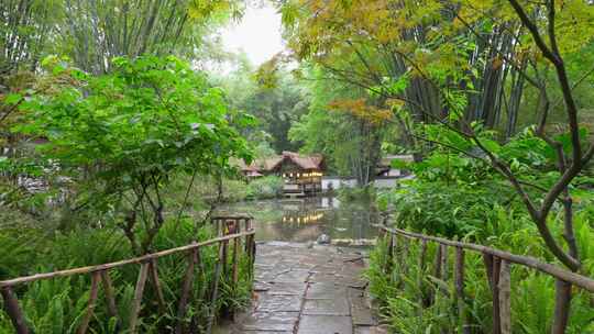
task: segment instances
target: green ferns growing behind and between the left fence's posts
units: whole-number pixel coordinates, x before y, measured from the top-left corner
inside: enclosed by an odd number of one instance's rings
[[[33,231],[29,233],[33,235]],[[196,231],[189,220],[183,220],[176,224],[167,222],[160,234],[155,237],[156,249],[167,249],[187,244],[190,240],[205,241],[213,237],[210,227]],[[22,267],[22,272],[15,272],[15,267],[7,258],[2,258],[0,268],[11,268],[9,277],[24,275],[25,272],[46,272],[56,269],[116,261],[133,256],[130,246],[122,242],[122,233],[113,233],[109,230],[81,229],[68,234],[57,234],[53,238],[45,237],[36,243],[25,244],[29,252],[36,252],[31,257],[26,252],[12,253],[13,258]],[[2,254],[10,250],[11,244],[0,244]],[[233,287],[229,276],[221,276],[221,293],[213,309],[209,300],[215,278],[215,266],[218,257],[218,246],[200,248],[204,271],[196,271],[193,296],[190,300],[187,321],[194,318],[194,322],[206,324],[211,312],[220,316],[232,310],[246,305],[251,298],[251,279],[248,275],[249,260],[244,254],[240,257],[240,282]],[[228,257],[228,268],[231,267],[231,255]],[[154,289],[150,281],[145,289],[143,312],[141,313],[140,329],[142,333],[162,333],[175,325],[177,304],[187,257],[183,254],[163,257],[158,260],[158,275],[165,300],[167,301],[166,314],[161,314],[155,300]],[[127,266],[121,269],[110,270],[110,276],[116,288],[116,299],[120,310],[121,325],[128,324],[134,285],[138,276],[138,266]],[[2,278],[8,278],[3,276]],[[16,289],[21,305],[28,323],[35,333],[76,333],[81,316],[86,312],[89,298],[90,276],[73,276],[51,280],[40,280],[20,286]],[[100,292],[101,296],[101,292]],[[1,305],[1,302],[0,302]],[[95,309],[96,316],[91,321],[95,333],[113,333],[114,320],[107,315],[107,305],[102,298],[98,299]],[[0,333],[10,333],[12,325],[10,319],[0,311]],[[120,330],[125,330],[120,327]]]

